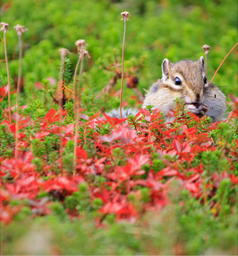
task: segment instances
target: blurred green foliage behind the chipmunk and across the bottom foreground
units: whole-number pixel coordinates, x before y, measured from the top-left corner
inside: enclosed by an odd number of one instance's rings
[[[112,72],[106,73],[100,65],[113,60],[114,49],[120,57],[123,40],[120,13],[128,10],[133,19],[127,22],[126,28],[126,68],[146,57],[144,66],[138,71],[138,87],[142,93],[161,77],[161,62],[164,58],[172,62],[197,60],[204,55],[204,44],[211,47],[208,57],[210,80],[222,59],[237,42],[237,7],[237,0],[1,0],[1,22],[9,24],[7,52],[10,76],[13,82],[19,68],[18,38],[13,26],[25,25],[28,32],[23,36],[25,90],[22,92],[21,104],[28,103],[30,106],[25,109],[25,113],[33,120],[39,119],[45,115],[44,104],[46,103],[47,109],[54,104],[49,95],[47,102],[44,101],[44,92],[36,89],[34,83],[41,81],[47,85],[48,77],[58,80],[59,48],[68,48],[71,51],[68,58],[71,60],[71,74],[74,74],[78,58],[74,43],[77,39],[86,39],[91,59],[85,62],[83,107],[87,114],[92,114],[101,107],[107,110],[119,106],[119,97],[106,96],[100,100],[94,97],[113,76]],[[3,42],[0,43],[0,59],[4,59]],[[236,49],[225,60],[213,80],[226,96],[229,93],[238,95],[237,64]],[[7,75],[4,62],[0,63],[0,68],[2,86],[6,84]],[[71,86],[72,81],[69,80],[69,83]],[[53,87],[56,86],[48,87],[55,89]],[[120,81],[116,89],[119,87]],[[123,100],[128,101],[131,106],[135,103],[130,97],[132,95],[135,92],[125,88]],[[14,100],[16,95],[11,97]],[[1,104],[3,107],[4,104],[7,106],[7,97]],[[65,109],[71,108],[70,102],[66,103]],[[220,125],[219,131],[225,140],[231,137],[230,133],[234,135],[233,129],[228,129],[231,128],[228,124]],[[28,129],[30,134],[30,129],[37,127]],[[105,133],[107,132],[106,129]],[[210,134],[219,141],[220,134]],[[33,142],[33,149],[36,149],[36,167],[41,167],[39,159],[45,154],[46,148],[50,152],[55,150],[51,147],[58,143],[57,139],[54,136],[49,137],[44,147],[39,147],[37,140]],[[13,138],[10,137],[9,140],[13,141]],[[52,163],[55,161],[53,153],[49,160]],[[212,156],[203,153],[202,163],[213,166],[215,170],[222,161],[219,153],[214,152]],[[71,155],[68,156],[65,162],[70,165]],[[209,163],[205,162],[207,159],[210,160]],[[225,191],[229,189],[229,181],[220,188],[219,193],[222,196],[217,200],[220,204],[224,202],[224,209],[222,208],[223,211],[218,217],[213,216],[209,207],[200,205],[186,191],[182,191],[171,196],[172,203],[158,216],[146,215],[141,222],[135,224],[115,223],[113,216],[109,216],[106,228],[95,227],[89,212],[86,212],[89,216],[83,216],[82,220],[70,222],[59,202],[55,202],[52,207],[53,216],[34,220],[30,217],[30,206],[26,206],[10,225],[1,225],[1,250],[5,255],[33,255],[36,251],[31,251],[28,246],[38,244],[39,237],[46,237],[41,246],[42,255],[236,255],[237,210],[233,216],[230,214],[229,203],[225,204],[229,201],[229,197],[224,196]],[[186,202],[186,214],[181,211],[178,203],[181,198]],[[46,235],[48,231],[49,235]],[[35,240],[29,240],[30,237]],[[182,245],[184,251],[180,252],[179,247],[173,247],[175,245]]]

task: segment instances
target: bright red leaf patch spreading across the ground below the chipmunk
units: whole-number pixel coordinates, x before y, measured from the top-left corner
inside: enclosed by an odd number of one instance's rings
[[[6,92],[7,88],[1,88],[0,96],[4,97]],[[225,122],[231,122],[238,116],[238,98],[231,97],[231,100],[234,110]],[[199,161],[198,156],[200,153],[212,153],[216,150],[217,145],[210,138],[209,131],[218,129],[219,122],[204,124],[203,119],[195,115],[179,119],[177,109],[170,112],[176,118],[176,126],[164,124],[158,109],[152,112],[140,109],[140,113],[130,121],[127,118],[110,118],[105,114],[100,118],[100,112],[91,117],[80,115],[85,122],[80,121],[83,132],[78,140],[80,146],[77,147],[77,170],[73,176],[72,170],[65,169],[60,174],[57,171],[62,159],[55,159],[50,163],[48,156],[41,156],[41,167],[33,161],[37,160],[33,156],[33,139],[44,142],[45,138],[60,135],[60,126],[57,123],[60,115],[56,110],[51,109],[39,120],[39,129],[30,138],[25,127],[34,125],[34,121],[28,116],[16,116],[13,113],[13,120],[18,118],[22,129],[19,133],[19,159],[7,156],[0,159],[1,221],[9,223],[21,210],[21,206],[10,206],[10,202],[16,199],[22,200],[22,204],[23,199],[28,199],[32,214],[51,214],[48,208],[51,197],[64,203],[65,198],[79,191],[82,182],[88,184],[87,193],[91,202],[94,199],[102,200],[103,205],[97,210],[101,220],[107,214],[115,214],[118,220],[130,221],[135,220],[145,210],[158,211],[167,205],[170,183],[175,179],[181,188],[200,198],[202,203],[209,196],[213,196],[223,179],[230,179],[232,185],[238,184],[237,176],[232,173],[233,158],[238,153],[238,141],[229,149],[222,146],[231,170],[213,172],[210,175],[211,182],[205,183],[205,171],[209,170]],[[108,134],[101,133],[100,129],[108,123],[111,125]],[[15,124],[9,124],[7,120],[1,124],[6,126],[6,132],[15,135]],[[74,124],[64,122],[61,131],[66,150],[68,141],[74,141]],[[83,147],[84,145],[87,147]],[[12,150],[14,152],[13,148]],[[102,181],[97,182],[100,179]],[[135,194],[141,198],[141,188],[147,188],[149,199],[141,202],[143,211],[141,208],[138,211],[129,201],[129,196]],[[48,193],[48,196],[40,198],[39,193]],[[73,211],[68,212],[70,214]],[[80,215],[80,212],[74,209],[73,215]]]

